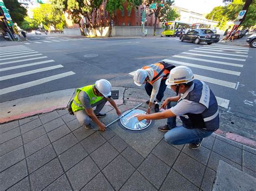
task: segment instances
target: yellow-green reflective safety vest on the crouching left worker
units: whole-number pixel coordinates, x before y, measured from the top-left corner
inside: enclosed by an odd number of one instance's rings
[[[85,86],[83,88],[78,88],[77,89],[77,94],[76,94],[76,96],[73,100],[73,103],[71,104],[73,112],[84,109],[82,103],[78,100],[78,94],[79,94],[80,91],[84,91],[88,95],[88,97],[90,98],[90,104],[91,105],[100,101],[100,100],[102,100],[104,98],[104,97],[101,97],[101,96],[97,96],[93,93],[93,86],[94,85],[95,84],[92,84],[90,86]]]

